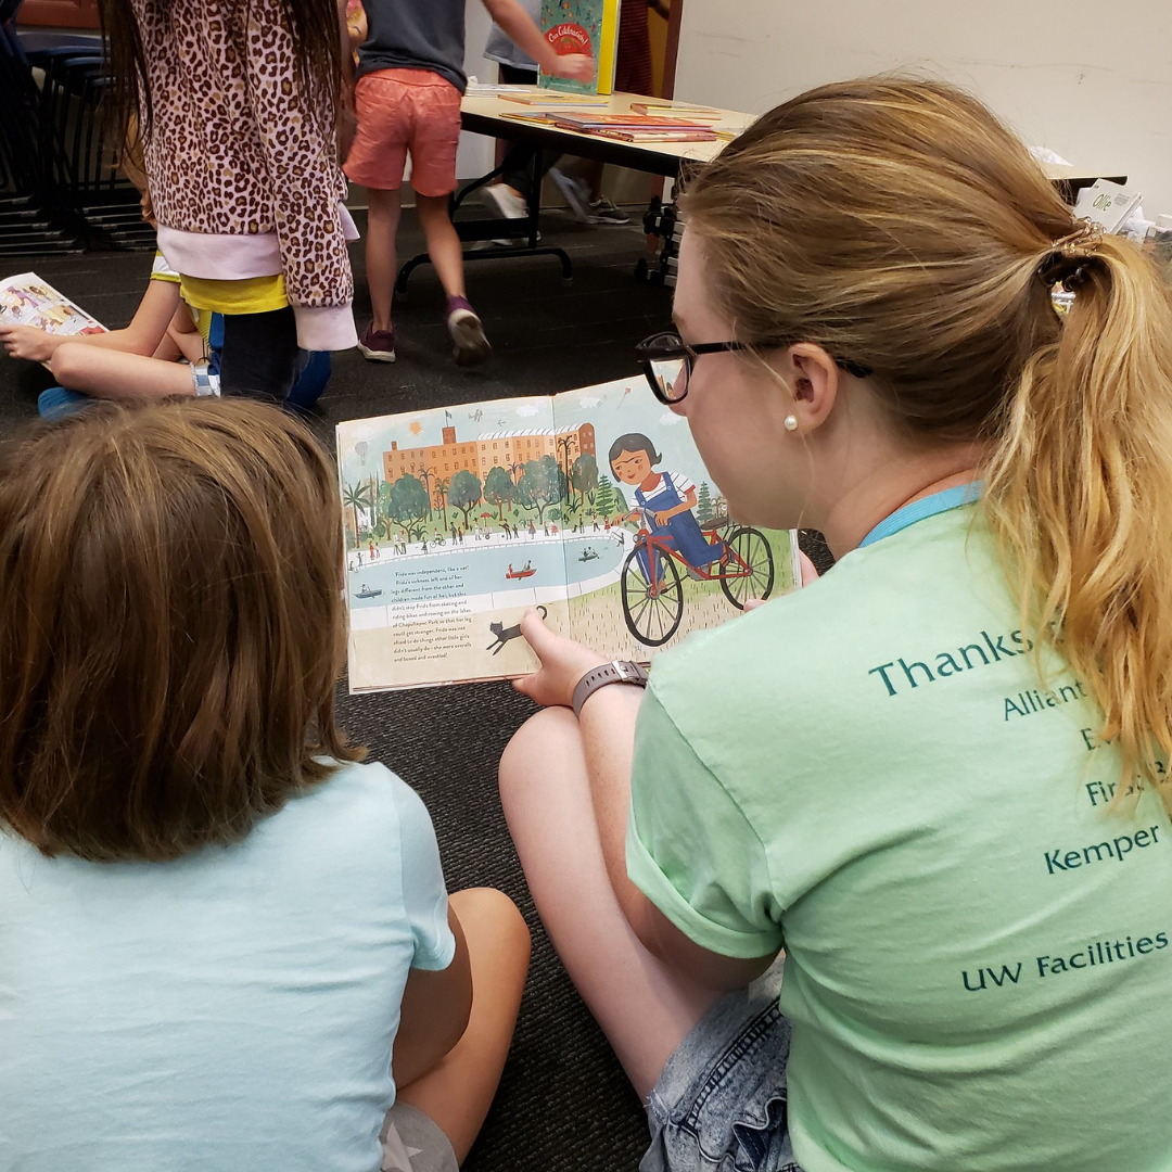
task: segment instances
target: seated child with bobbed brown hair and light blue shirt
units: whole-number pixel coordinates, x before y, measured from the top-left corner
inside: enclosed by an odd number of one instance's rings
[[[6,1166],[471,1146],[529,935],[449,899],[422,802],[336,727],[341,548],[329,459],[273,407],[100,403],[0,461]]]

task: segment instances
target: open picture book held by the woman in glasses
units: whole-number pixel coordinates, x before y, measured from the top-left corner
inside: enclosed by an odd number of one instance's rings
[[[641,377],[340,423],[352,691],[537,669],[556,631],[648,662],[800,582],[796,534],[737,524]]]

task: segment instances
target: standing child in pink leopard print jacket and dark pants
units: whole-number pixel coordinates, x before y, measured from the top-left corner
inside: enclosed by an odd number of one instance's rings
[[[284,400],[299,346],[356,340],[346,241],[357,232],[334,138],[345,7],[102,0],[101,9],[118,108],[143,128],[159,248],[184,300],[224,316],[223,389]]]

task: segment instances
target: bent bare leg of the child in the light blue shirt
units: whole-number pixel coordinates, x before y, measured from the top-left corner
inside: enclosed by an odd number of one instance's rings
[[[398,1088],[444,1132],[463,1164],[500,1082],[529,972],[529,928],[507,895],[472,887],[451,897],[472,966],[472,1015],[440,1065]]]

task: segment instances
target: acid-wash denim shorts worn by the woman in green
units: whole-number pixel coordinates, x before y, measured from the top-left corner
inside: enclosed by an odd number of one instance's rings
[[[721,997],[667,1061],[640,1172],[802,1172],[786,1126],[783,962]]]

